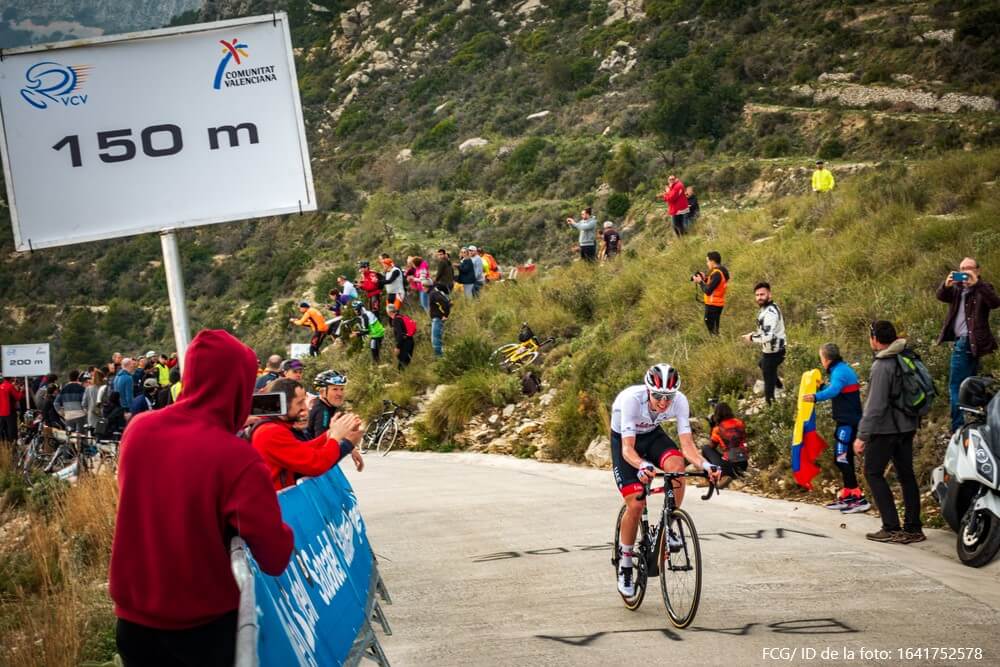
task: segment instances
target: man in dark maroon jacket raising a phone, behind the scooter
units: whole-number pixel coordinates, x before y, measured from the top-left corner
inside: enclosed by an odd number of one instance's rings
[[[961,278],[962,280],[955,280]],[[993,285],[979,277],[979,264],[966,257],[958,271],[950,271],[938,287],[938,301],[948,304],[948,316],[937,343],[955,341],[951,351],[948,389],[951,394],[951,430],[962,425],[958,388],[962,380],[979,372],[979,360],[997,349],[990,331],[990,311],[1000,307]]]

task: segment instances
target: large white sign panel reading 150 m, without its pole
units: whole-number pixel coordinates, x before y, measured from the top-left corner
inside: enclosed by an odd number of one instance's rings
[[[18,250],[315,210],[284,13],[11,49]]]

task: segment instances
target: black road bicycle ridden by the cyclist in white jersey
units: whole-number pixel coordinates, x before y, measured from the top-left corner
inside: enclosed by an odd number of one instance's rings
[[[660,475],[657,475],[660,477]],[[670,622],[677,628],[686,628],[694,621],[701,599],[701,546],[698,543],[698,531],[694,521],[684,510],[677,507],[674,497],[673,480],[686,477],[708,477],[708,473],[700,472],[665,472],[662,473],[663,486],[652,488],[652,483],[643,485],[640,500],[650,495],[662,493],[663,512],[658,525],[650,526],[648,518],[649,503],[643,505],[642,520],[636,535],[633,549],[633,577],[635,593],[629,597],[622,594],[625,607],[635,611],[642,604],[646,595],[646,585],[649,577],[660,577],[660,592],[663,594],[663,604],[667,608]],[[701,497],[708,500],[717,491],[715,484],[709,480],[708,493]],[[615,566],[615,578],[618,577],[620,559],[622,519],[625,517],[625,506],[618,512],[615,522],[614,551],[611,563]],[[672,539],[665,539],[665,538]],[[671,545],[670,542],[673,542]],[[621,592],[619,591],[619,594]]]

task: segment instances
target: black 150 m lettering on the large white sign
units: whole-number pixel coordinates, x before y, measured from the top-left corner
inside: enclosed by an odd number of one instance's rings
[[[251,144],[260,143],[260,135],[257,126],[253,123],[240,123],[239,125],[220,125],[210,127],[208,133],[209,150],[218,150],[220,147],[219,137],[223,135],[229,142],[229,148],[240,145],[240,131],[246,133],[247,140]],[[97,157],[101,162],[127,162],[133,159],[138,152],[136,142],[131,129],[108,130],[97,133],[97,147],[101,151]],[[139,147],[146,157],[166,157],[176,155],[184,148],[184,136],[181,128],[176,125],[150,125],[139,132]],[[80,135],[70,134],[60,139],[52,149],[61,151],[69,148],[70,162],[74,167],[83,166],[83,153],[80,150]]]

